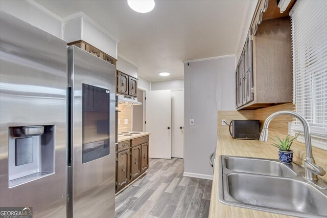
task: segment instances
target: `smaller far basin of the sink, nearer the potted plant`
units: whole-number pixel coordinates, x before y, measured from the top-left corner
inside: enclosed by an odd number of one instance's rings
[[[292,164],[283,164],[269,159],[229,157],[226,168],[235,172],[247,172],[276,177],[296,177]]]

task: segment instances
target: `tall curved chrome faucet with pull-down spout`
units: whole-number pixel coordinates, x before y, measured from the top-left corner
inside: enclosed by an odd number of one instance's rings
[[[266,142],[268,140],[268,125],[270,121],[279,115],[291,115],[295,118],[297,118],[299,121],[301,121],[304,129],[305,134],[305,143],[306,143],[306,149],[307,149],[307,157],[304,160],[305,161],[305,175],[304,178],[309,181],[317,181],[319,176],[324,176],[326,172],[321,168],[320,166],[315,164],[315,160],[312,157],[312,147],[311,147],[311,134],[310,134],[310,126],[308,121],[301,115],[292,112],[292,111],[279,111],[276,113],[273,113],[270,115],[263,126],[261,135],[260,135],[260,141]]]

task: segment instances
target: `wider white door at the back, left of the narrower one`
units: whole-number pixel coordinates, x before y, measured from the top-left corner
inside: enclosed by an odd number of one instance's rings
[[[147,91],[146,114],[149,158],[171,159],[171,91]]]

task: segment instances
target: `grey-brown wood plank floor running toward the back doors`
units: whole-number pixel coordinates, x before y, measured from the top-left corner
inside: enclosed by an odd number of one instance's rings
[[[212,180],[183,177],[183,159],[150,159],[143,178],[115,198],[115,216],[208,217]]]

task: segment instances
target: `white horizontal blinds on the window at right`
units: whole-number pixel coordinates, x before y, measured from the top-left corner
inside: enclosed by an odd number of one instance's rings
[[[326,132],[327,1],[297,1],[290,16],[296,112]]]

